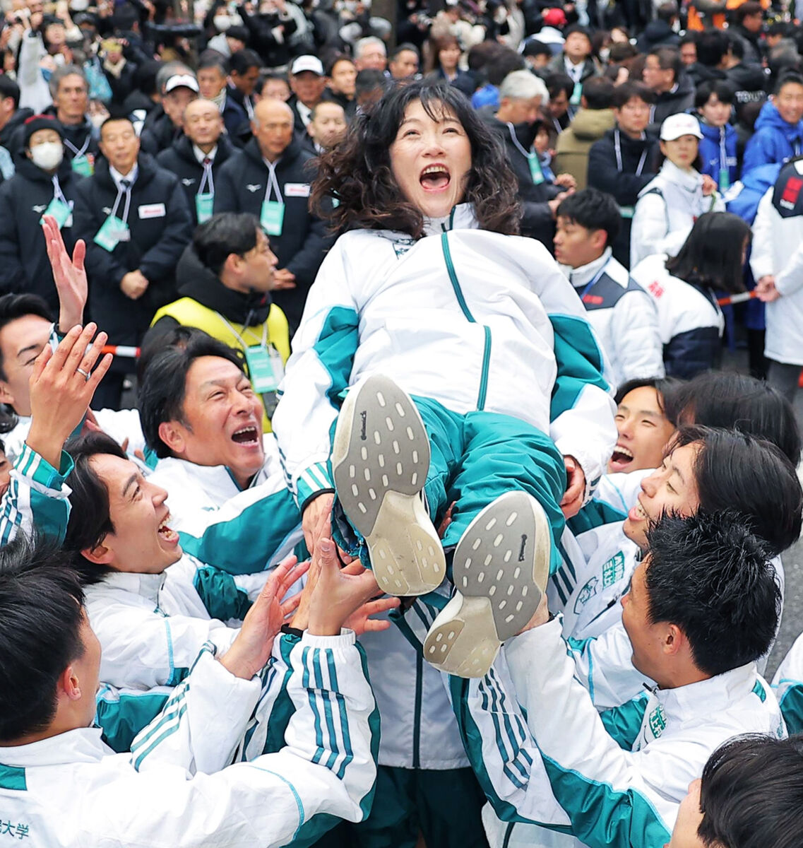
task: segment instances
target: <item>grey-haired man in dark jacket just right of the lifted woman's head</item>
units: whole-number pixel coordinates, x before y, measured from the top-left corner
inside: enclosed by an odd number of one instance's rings
[[[537,238],[551,250],[555,213],[568,191],[545,175],[534,148],[542,122],[541,109],[549,103],[544,81],[529,70],[514,70],[499,86],[499,109],[480,109],[485,122],[505,146],[507,159],[518,178],[518,196],[524,210],[522,235]],[[487,109],[487,110],[486,110]]]

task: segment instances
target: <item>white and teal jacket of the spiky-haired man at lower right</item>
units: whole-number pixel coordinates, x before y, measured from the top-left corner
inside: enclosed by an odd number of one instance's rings
[[[786,734],[755,663],[678,689],[645,689],[600,714],[575,678],[557,619],[511,639],[504,653],[507,689],[498,671],[450,679],[468,754],[498,817],[485,817],[493,848],[561,844],[540,825],[572,834],[573,845],[663,848],[713,750],[739,734]]]

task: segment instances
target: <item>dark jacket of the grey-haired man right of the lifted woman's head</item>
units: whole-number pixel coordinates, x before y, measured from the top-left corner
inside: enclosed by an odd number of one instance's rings
[[[555,234],[555,219],[549,208],[549,201],[561,192],[551,182],[535,185],[529,170],[526,151],[531,149],[535,137],[534,126],[513,126],[499,120],[490,110],[481,111],[480,116],[504,144],[507,161],[518,180],[518,197],[522,202],[522,235],[537,238],[547,250],[552,250],[552,237]],[[513,135],[516,140],[513,140]],[[518,142],[518,143],[516,143]]]

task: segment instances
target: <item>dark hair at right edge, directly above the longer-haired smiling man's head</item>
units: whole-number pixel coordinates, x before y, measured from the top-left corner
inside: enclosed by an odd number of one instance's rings
[[[768,382],[737,371],[703,371],[667,398],[676,424],[723,427],[777,445],[800,465],[800,428],[792,404]]]

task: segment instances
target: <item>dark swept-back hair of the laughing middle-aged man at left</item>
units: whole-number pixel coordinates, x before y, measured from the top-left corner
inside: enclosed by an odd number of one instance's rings
[[[170,449],[159,436],[159,425],[163,421],[184,422],[187,372],[192,363],[202,356],[229,360],[246,373],[240,351],[205,333],[193,335],[184,348],[163,349],[153,356],[142,373],[139,389],[140,422],[147,444],[159,459],[170,455]]]

